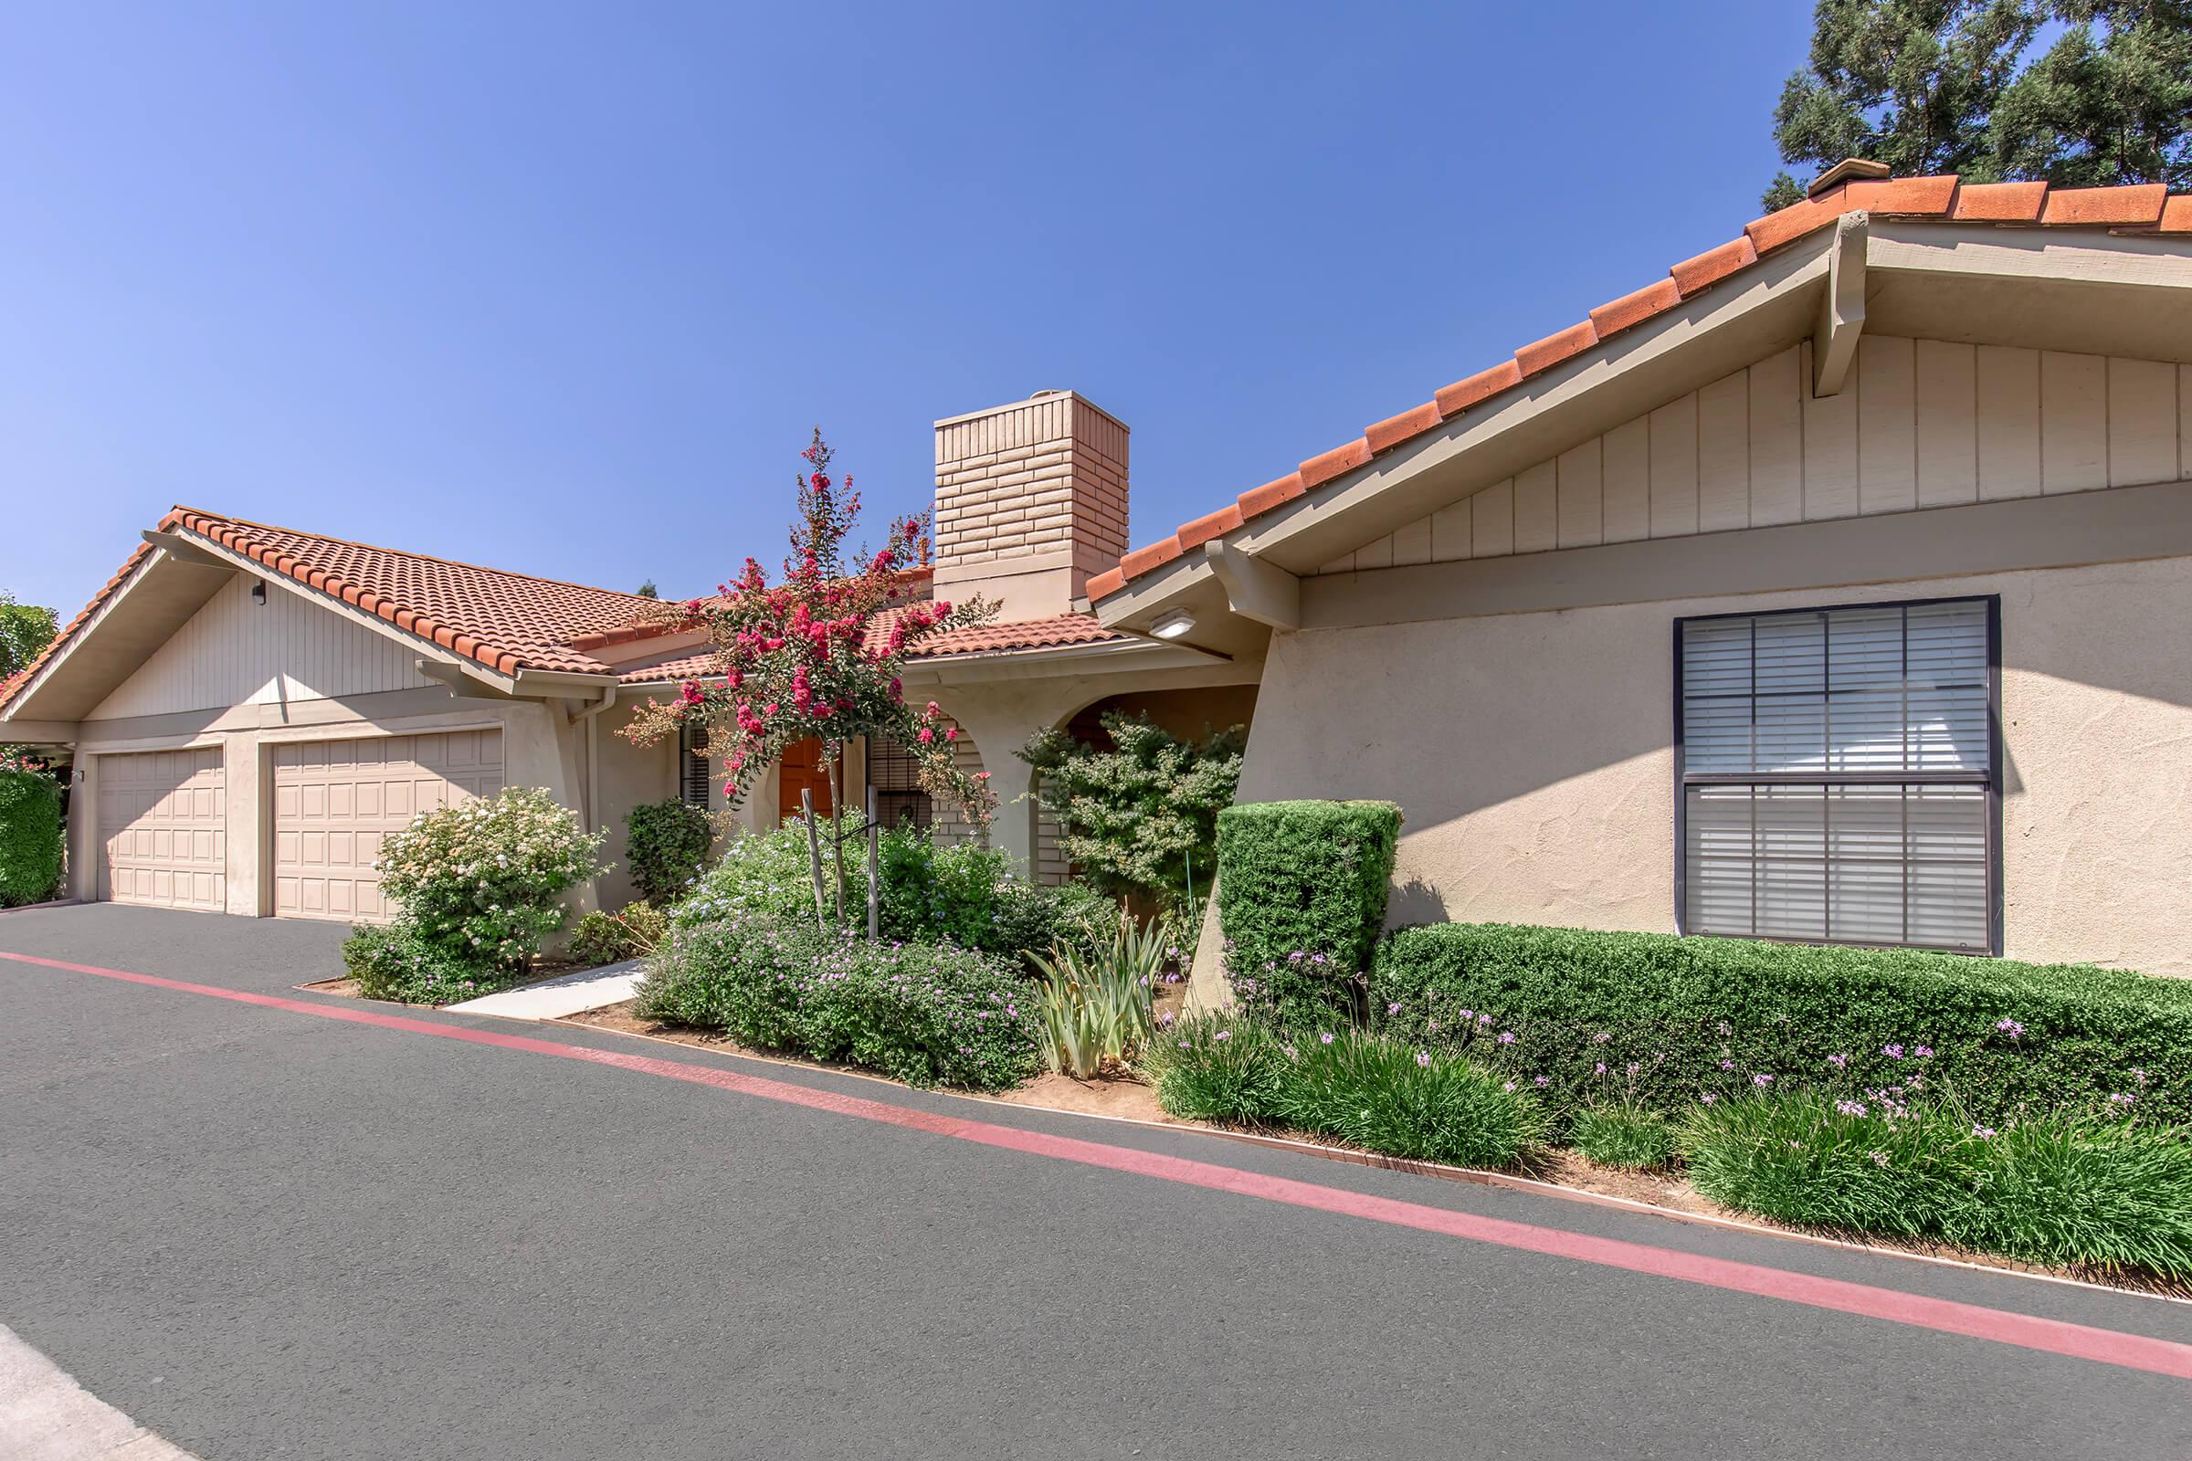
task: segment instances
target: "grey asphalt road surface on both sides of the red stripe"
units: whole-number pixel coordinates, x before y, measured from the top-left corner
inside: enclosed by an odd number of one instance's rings
[[[340,937],[0,916],[0,951],[357,1008],[292,990]],[[2157,1299],[421,1019],[2192,1343]],[[206,1461],[2192,1454],[2159,1373],[11,959],[0,1323]]]

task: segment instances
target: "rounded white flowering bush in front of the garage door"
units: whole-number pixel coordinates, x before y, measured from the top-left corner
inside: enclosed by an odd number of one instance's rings
[[[607,872],[601,835],[546,791],[419,813],[381,843],[381,891],[432,948],[480,968],[522,968],[563,927],[563,894]]]

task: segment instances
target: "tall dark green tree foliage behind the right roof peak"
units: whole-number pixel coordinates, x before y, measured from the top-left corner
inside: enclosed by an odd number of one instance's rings
[[[2060,186],[2192,182],[2192,0],[1819,0],[1782,162]],[[1804,186],[1780,173],[1765,206]]]

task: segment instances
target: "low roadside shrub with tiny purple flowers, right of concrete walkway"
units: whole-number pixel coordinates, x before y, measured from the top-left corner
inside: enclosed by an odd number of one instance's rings
[[[1011,966],[949,944],[822,933],[809,920],[673,927],[636,1008],[914,1086],[997,1091],[1041,1067],[1028,988]]]

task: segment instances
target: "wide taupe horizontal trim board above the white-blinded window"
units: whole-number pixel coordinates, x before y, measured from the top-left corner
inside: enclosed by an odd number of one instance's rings
[[[1416,563],[1302,583],[1304,629],[2192,556],[2192,482]]]

